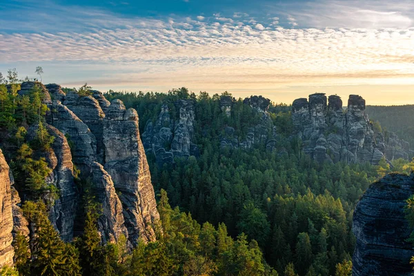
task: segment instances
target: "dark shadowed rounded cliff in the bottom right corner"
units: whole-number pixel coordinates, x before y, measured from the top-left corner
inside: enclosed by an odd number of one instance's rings
[[[413,176],[387,175],[359,200],[353,214],[353,275],[412,275],[414,250],[406,242],[412,229],[404,206],[414,193]]]

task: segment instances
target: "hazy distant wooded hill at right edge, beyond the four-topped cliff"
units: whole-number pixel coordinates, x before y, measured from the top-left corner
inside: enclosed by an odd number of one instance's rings
[[[414,105],[366,106],[366,113],[372,121],[379,121],[383,130],[395,132],[414,149]]]

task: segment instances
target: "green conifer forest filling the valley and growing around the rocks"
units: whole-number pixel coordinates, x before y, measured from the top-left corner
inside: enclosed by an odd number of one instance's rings
[[[83,229],[63,242],[48,219],[59,190],[45,179],[50,168],[44,157],[54,141],[46,130],[46,104],[39,86],[19,95],[17,73],[0,78],[0,146],[6,153],[15,186],[23,198],[23,215],[36,225],[27,240],[14,239],[15,268],[1,275],[351,275],[355,237],[352,215],[359,197],[386,173],[410,172],[413,164],[398,159],[371,164],[318,164],[291,137],[290,106],[271,103],[268,114],[277,129],[278,150],[257,144],[249,150],[221,148],[224,127],[239,137],[258,124],[259,115],[242,99],[230,117],[221,112],[222,95],[196,95],[186,88],[168,93],[109,91],[136,108],[142,134],[161,105],[195,102],[195,141],[199,156],[157,163],[148,155],[152,184],[161,217],[156,242],[130,248],[126,239],[102,244],[97,230],[101,206],[90,179],[77,175]],[[65,89],[64,89],[65,90]],[[66,88],[66,91],[69,89]],[[90,94],[88,86],[79,90]],[[30,126],[38,125],[34,137]],[[30,139],[29,139],[30,138]]]

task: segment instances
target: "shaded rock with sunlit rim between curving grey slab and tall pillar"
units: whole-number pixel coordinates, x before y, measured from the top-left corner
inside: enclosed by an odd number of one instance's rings
[[[103,113],[99,102],[92,96],[79,96],[76,91],[70,91],[63,101],[63,105],[67,106],[72,112],[85,123],[90,132],[95,135],[97,141],[96,159],[103,164]]]

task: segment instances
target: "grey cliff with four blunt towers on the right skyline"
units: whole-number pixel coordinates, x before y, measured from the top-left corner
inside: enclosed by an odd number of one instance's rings
[[[358,95],[350,95],[346,110],[336,95],[331,95],[328,103],[324,93],[310,95],[309,101],[296,99],[292,119],[304,152],[319,162],[378,164],[383,156],[408,159],[408,153],[400,149],[401,140],[391,137],[386,144],[382,133],[373,128],[365,112],[365,100]]]

